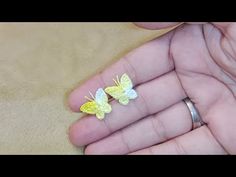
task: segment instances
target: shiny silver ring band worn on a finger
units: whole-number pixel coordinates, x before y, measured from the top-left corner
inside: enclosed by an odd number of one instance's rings
[[[205,123],[202,121],[201,116],[198,110],[195,108],[193,102],[189,98],[185,98],[183,99],[183,101],[187,105],[192,117],[192,123],[193,123],[192,129],[196,129],[204,125]]]

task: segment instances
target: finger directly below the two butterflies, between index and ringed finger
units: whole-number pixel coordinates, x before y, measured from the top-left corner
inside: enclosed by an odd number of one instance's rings
[[[127,106],[112,102],[112,112],[103,121],[94,116],[80,119],[70,128],[70,140],[77,146],[87,145],[145,116],[157,113],[186,97],[175,72],[168,73],[137,87],[138,98]]]

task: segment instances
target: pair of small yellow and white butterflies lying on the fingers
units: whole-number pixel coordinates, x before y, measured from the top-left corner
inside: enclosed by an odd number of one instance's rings
[[[120,80],[117,76],[117,80],[113,79],[116,86],[105,88],[105,92],[118,100],[120,104],[127,105],[130,99],[137,98],[137,93],[133,89],[133,84],[129,76],[125,73],[121,76]],[[95,114],[98,119],[103,119],[105,113],[110,113],[112,108],[108,104],[108,97],[102,88],[99,88],[95,94],[95,98],[92,94],[90,99],[86,97],[89,102],[83,104],[80,110],[87,114]]]

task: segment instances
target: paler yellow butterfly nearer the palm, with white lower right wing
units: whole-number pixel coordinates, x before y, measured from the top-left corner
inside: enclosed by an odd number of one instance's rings
[[[137,98],[137,92],[133,89],[132,81],[126,73],[121,76],[120,81],[118,76],[116,76],[116,80],[113,80],[116,86],[107,87],[105,92],[119,100],[120,104],[127,105],[130,99]]]

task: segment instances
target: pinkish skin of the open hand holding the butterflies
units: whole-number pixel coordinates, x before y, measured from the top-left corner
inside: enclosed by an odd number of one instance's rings
[[[177,23],[136,23],[147,29]],[[112,101],[102,121],[86,116],[69,130],[85,154],[236,154],[236,23],[184,23],[152,40],[76,88],[78,112],[90,90],[127,73],[138,98]],[[195,103],[206,125],[191,130],[183,99]]]

